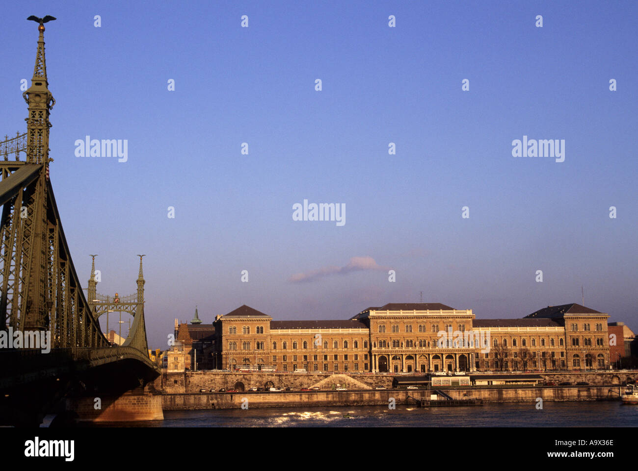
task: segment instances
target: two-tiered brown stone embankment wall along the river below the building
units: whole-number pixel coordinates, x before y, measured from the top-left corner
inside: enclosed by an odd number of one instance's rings
[[[620,382],[635,379],[636,372],[591,372],[591,373],[539,373],[545,381],[557,384],[564,381],[586,381],[589,386],[547,387],[480,387],[445,388],[453,399],[482,399],[490,402],[530,402],[537,398],[544,401],[593,401],[618,400]],[[163,373],[154,384],[161,391],[164,410],[181,409],[238,409],[242,404],[256,407],[321,407],[355,405],[389,405],[419,403],[429,399],[432,391],[415,389],[392,389],[392,374],[330,374],[330,373],[228,373],[228,372],[183,372]],[[295,391],[317,385],[321,391]],[[211,393],[210,389],[237,389],[237,393]],[[293,391],[250,392],[249,388],[291,388]],[[348,391],[334,391],[344,387]],[[387,389],[375,390],[377,386]],[[200,392],[202,389],[206,391]],[[352,389],[357,389],[353,391]]]

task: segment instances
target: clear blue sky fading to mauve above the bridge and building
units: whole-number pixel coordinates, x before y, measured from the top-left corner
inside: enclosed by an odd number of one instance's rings
[[[26,129],[20,80],[37,31],[25,18],[53,15],[64,231],[84,283],[98,254],[101,293],[133,293],[147,254],[152,347],[196,304],[205,322],[244,303],[279,320],[346,319],[420,291],[494,318],[580,303],[584,286],[585,305],[638,328],[634,1],[34,1],[3,13],[0,131]],[[128,161],[75,157],[87,135],[128,140]],[[524,135],[565,140],[565,161],[512,157]],[[345,204],[346,224],[293,221],[304,199]],[[326,268],[347,266],[367,269]]]

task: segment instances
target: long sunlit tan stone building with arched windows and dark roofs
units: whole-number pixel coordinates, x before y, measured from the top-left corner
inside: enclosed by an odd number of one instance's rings
[[[601,370],[610,364],[608,317],[575,303],[523,319],[475,319],[471,309],[440,303],[389,303],[347,320],[274,321],[244,305],[212,324],[196,315],[175,336],[189,349],[191,370]]]

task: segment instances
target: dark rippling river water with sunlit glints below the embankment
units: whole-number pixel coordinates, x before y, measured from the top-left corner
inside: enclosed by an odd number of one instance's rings
[[[350,418],[344,417],[349,414]],[[475,407],[397,405],[281,409],[168,410],[163,421],[89,426],[142,427],[621,427],[638,426],[638,405],[610,402],[486,404]]]

